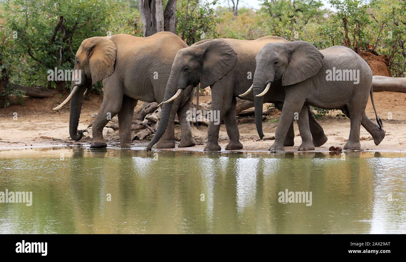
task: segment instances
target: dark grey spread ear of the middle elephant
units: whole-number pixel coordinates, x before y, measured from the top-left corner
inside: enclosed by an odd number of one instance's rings
[[[205,41],[197,45],[197,48],[202,51],[201,88],[208,87],[225,76],[237,63],[237,53],[223,40]]]

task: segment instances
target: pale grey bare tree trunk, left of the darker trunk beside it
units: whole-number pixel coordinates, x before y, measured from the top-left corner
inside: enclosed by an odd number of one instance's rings
[[[144,36],[149,37],[164,30],[162,0],[139,0]]]

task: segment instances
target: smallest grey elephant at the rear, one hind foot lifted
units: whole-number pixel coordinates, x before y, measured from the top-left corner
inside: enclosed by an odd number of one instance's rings
[[[284,106],[276,128],[274,144],[268,149],[284,151],[283,141],[294,119],[298,115],[298,125],[302,136],[302,150],[314,149],[308,126],[307,110],[304,104],[324,109],[340,109],[351,120],[348,142],[344,149],[359,149],[360,124],[372,135],[376,145],[382,141],[385,132],[382,121],[378,125],[365,115],[365,107],[371,96],[372,104],[372,71],[368,64],[353,50],[344,46],[333,46],[317,50],[305,41],[289,43],[270,43],[265,45],[256,57],[257,67],[254,76],[254,95],[261,93],[266,84],[276,80],[282,81],[285,89]],[[354,81],[327,81],[328,69],[359,70],[359,83]],[[356,81],[355,81],[356,82]],[[272,88],[272,86],[271,86]],[[255,118],[259,136],[262,138],[262,121],[257,114],[262,108],[261,97],[255,97]]]

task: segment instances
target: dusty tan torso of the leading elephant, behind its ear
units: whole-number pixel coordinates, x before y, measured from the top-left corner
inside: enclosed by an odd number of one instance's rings
[[[150,37],[120,34],[111,40],[117,46],[114,67],[125,86],[124,94],[145,102],[162,100],[173,60],[188,45],[171,32]]]

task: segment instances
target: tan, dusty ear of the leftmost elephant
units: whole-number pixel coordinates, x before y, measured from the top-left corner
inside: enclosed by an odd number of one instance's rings
[[[107,37],[85,39],[81,46],[86,51],[92,84],[113,74],[117,47]]]

